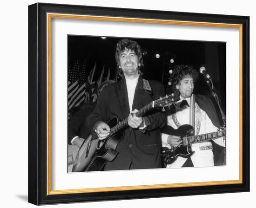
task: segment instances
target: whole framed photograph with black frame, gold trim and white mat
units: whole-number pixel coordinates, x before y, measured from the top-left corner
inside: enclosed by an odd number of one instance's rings
[[[28,201],[249,191],[249,17],[28,7]]]

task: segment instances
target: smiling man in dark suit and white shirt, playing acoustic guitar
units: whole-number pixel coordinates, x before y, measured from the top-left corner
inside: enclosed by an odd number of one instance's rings
[[[159,110],[149,111],[143,117],[135,113],[165,95],[163,85],[157,81],[141,78],[143,66],[141,47],[130,39],[121,39],[116,47],[116,63],[121,81],[106,86],[87,126],[99,139],[108,137],[110,128],[106,123],[113,117],[124,120],[128,117],[128,128],[119,142],[117,156],[106,163],[104,170],[161,168],[161,133],[164,115]]]

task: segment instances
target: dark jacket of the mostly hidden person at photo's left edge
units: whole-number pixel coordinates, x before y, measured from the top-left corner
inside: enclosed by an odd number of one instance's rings
[[[95,103],[84,103],[74,113],[74,115],[68,120],[68,143],[71,144],[71,140],[75,136],[86,139],[90,131],[85,125],[86,118],[93,111]]]

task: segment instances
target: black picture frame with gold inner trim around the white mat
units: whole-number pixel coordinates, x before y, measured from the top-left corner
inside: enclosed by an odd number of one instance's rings
[[[77,193],[52,192],[47,165],[50,146],[47,108],[51,97],[47,91],[47,13],[92,15],[104,17],[174,20],[236,25],[242,38],[242,167],[241,182],[192,187],[136,189]],[[50,111],[51,113],[51,111]],[[202,195],[249,191],[249,17],[219,14],[135,10],[110,7],[88,7],[36,3],[28,7],[28,202],[43,205],[71,202],[125,200],[180,195]]]

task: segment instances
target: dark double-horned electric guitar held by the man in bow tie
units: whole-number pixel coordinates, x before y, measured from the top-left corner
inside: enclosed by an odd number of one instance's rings
[[[191,145],[194,143],[209,141],[211,139],[217,139],[226,135],[225,130],[220,130],[212,133],[195,135],[193,126],[185,124],[178,129],[174,129],[171,126],[165,126],[162,133],[174,136],[181,136],[182,143],[178,147],[163,147],[162,148],[162,161],[165,164],[173,163],[178,156],[185,158],[190,157],[194,152],[191,150]]]

